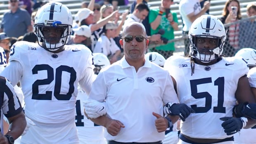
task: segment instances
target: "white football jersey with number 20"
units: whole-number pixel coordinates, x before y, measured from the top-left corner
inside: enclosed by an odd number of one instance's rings
[[[74,119],[78,82],[90,92],[95,78],[92,53],[85,46],[65,45],[55,54],[36,43],[16,42],[9,61],[20,63],[25,113],[40,123]]]

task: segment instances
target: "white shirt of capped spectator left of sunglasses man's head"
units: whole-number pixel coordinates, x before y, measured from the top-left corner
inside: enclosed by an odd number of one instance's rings
[[[120,50],[120,48],[116,45],[114,39],[102,35],[97,41],[93,53],[102,53],[107,57],[112,57],[117,50]]]

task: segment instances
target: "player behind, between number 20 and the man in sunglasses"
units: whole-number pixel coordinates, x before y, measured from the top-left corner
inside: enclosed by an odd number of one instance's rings
[[[109,59],[102,53],[93,53],[93,61],[95,66],[94,72],[96,75],[102,68],[110,65]],[[96,125],[84,115],[83,102],[87,99],[88,94],[78,87],[78,95],[76,98],[76,128],[78,130],[79,143],[107,144],[103,135],[103,127]]]

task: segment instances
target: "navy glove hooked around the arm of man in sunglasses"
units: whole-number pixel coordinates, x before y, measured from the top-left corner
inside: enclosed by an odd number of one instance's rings
[[[186,104],[171,104],[167,103],[164,106],[164,114],[169,114],[171,116],[180,116],[180,119],[185,121],[185,119],[194,113],[195,111],[188,107]]]

